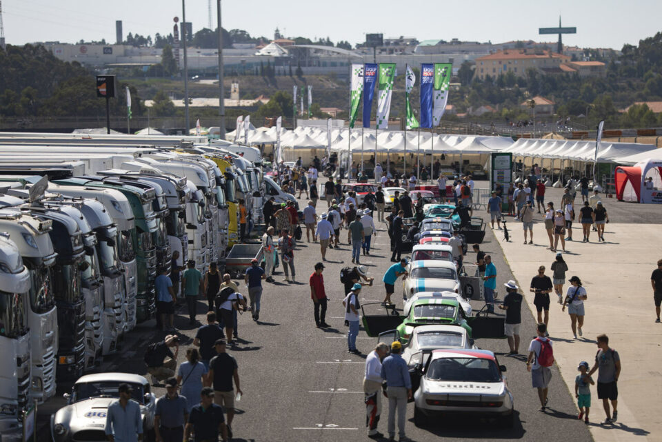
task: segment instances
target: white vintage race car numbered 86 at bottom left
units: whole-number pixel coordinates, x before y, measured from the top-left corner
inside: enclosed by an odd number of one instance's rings
[[[143,435],[153,439],[154,410],[157,398],[150,383],[139,374],[98,373],[81,376],[65,394],[67,405],[50,416],[54,442],[105,441],[106,412],[110,403],[119,399],[117,388],[128,383],[133,388],[132,399],[140,404]]]

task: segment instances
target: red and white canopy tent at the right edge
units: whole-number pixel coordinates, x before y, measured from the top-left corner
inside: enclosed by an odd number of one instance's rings
[[[650,184],[646,181],[649,181]],[[662,204],[662,161],[648,159],[633,166],[618,166],[615,172],[616,199]],[[660,190],[658,190],[660,189]]]

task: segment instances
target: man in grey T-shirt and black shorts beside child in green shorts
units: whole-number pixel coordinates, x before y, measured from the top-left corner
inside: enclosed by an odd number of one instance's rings
[[[616,407],[619,405],[618,382],[619,376],[621,376],[621,356],[619,356],[619,352],[609,347],[609,336],[606,334],[600,334],[596,341],[599,350],[595,354],[595,363],[588,375],[598,371],[598,399],[602,399],[607,416],[601,424],[609,425],[616,422],[619,416]],[[613,412],[610,412],[609,409],[610,401]]]

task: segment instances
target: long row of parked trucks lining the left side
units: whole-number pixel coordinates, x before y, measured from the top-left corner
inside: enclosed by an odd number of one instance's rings
[[[265,196],[294,200],[248,146],[0,134],[0,441],[154,316],[157,269],[222,263]]]

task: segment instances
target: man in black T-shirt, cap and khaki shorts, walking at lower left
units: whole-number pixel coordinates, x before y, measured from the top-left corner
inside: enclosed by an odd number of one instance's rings
[[[208,379],[214,388],[214,403],[222,405],[225,414],[228,414],[228,432],[232,437],[232,420],[234,419],[234,386],[237,394],[243,394],[239,386],[239,365],[237,360],[226,351],[225,341],[219,339],[215,343],[217,356],[209,363]]]

